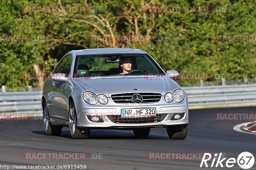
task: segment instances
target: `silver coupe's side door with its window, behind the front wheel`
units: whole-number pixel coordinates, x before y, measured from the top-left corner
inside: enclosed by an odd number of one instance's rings
[[[72,55],[67,55],[60,61],[53,74],[65,73],[66,77],[68,77],[71,69],[71,63]],[[51,95],[49,96],[49,98],[51,98],[49,112],[52,117],[68,120],[69,92],[66,90],[67,85],[68,84],[66,82],[52,80]]]

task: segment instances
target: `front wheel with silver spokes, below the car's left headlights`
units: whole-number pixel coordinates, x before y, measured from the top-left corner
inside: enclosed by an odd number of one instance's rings
[[[74,139],[89,138],[90,130],[88,130],[87,132],[82,132],[82,129],[77,127],[76,108],[73,101],[71,101],[69,104],[68,115],[69,131],[71,137],[73,137]]]

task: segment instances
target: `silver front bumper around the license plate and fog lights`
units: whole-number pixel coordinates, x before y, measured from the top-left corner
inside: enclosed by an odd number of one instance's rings
[[[164,120],[160,122],[146,122],[146,123],[115,123],[108,117],[111,115],[121,115],[122,108],[145,108],[145,106],[118,106],[118,107],[90,107],[82,108],[79,103],[75,103],[77,114],[77,126],[81,129],[133,129],[146,127],[167,127],[167,126],[183,126],[188,124],[188,106],[148,106],[156,108],[156,115],[167,114]],[[185,115],[178,120],[171,120],[173,114]],[[101,116],[104,122],[92,122],[87,116],[96,115]]]

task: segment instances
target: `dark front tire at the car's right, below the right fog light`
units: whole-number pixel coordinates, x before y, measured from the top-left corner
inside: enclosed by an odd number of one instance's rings
[[[185,127],[186,126],[186,127]],[[167,127],[167,134],[171,139],[185,139],[188,134],[188,125],[184,127]]]

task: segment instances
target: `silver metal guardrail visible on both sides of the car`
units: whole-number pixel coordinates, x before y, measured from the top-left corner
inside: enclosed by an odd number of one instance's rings
[[[189,109],[256,106],[256,84],[184,87]],[[2,113],[42,113],[42,92],[0,92]]]

